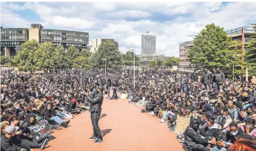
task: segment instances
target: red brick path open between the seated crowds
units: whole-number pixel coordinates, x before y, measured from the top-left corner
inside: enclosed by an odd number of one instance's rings
[[[141,113],[140,107],[128,101],[104,99],[101,116],[105,117],[99,121],[103,143],[95,145],[88,140],[93,128],[90,113],[85,111],[75,115],[68,128],[54,130],[52,140],[43,150],[183,150],[175,133],[169,132],[167,123],[159,123],[160,119]]]

